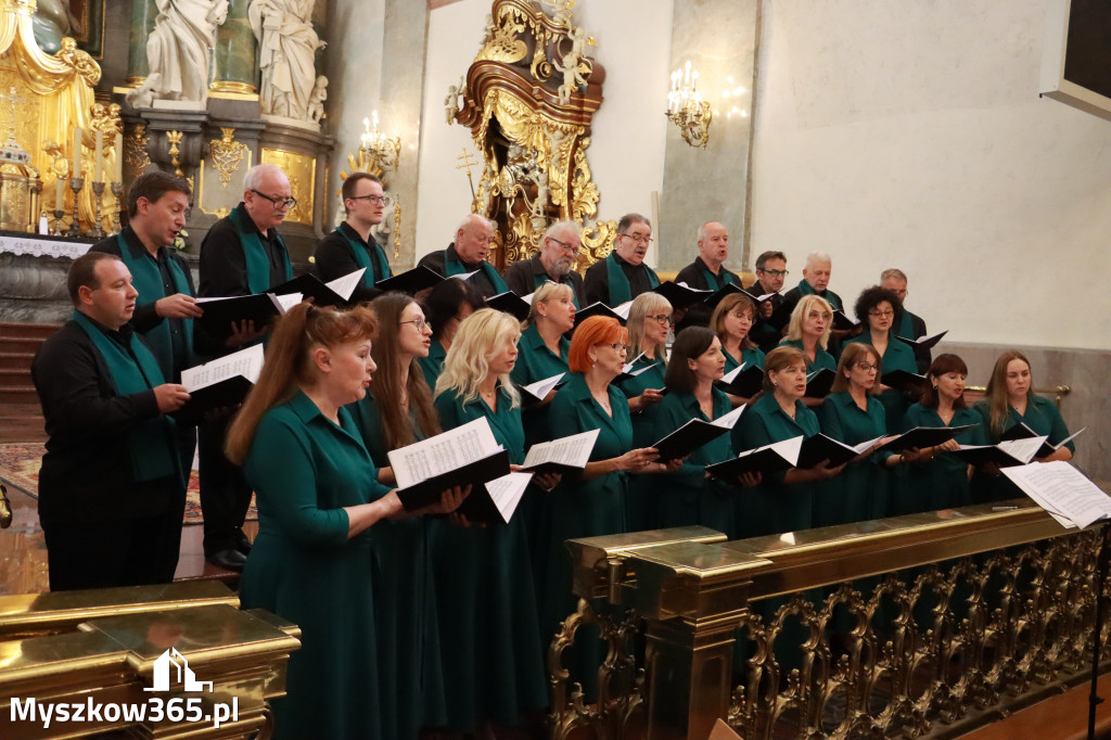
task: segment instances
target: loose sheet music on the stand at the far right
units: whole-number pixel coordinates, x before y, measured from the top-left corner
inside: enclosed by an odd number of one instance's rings
[[[1004,468],[1003,474],[1040,507],[1068,519],[1073,527],[1088,527],[1111,516],[1111,498],[1063,460]]]

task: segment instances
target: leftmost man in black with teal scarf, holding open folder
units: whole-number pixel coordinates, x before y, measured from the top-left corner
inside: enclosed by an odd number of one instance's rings
[[[67,288],[73,318],[31,366],[49,434],[39,520],[50,590],[168,583],[184,477],[164,414],[189,393],[162,381],[154,354],[128,326],[138,291],[119,257],[78,258]]]

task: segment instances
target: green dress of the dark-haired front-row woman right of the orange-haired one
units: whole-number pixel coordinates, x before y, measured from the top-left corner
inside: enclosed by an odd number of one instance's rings
[[[729,397],[717,388],[713,393],[713,418],[718,419],[732,410]],[[655,412],[655,439],[675,431],[691,419],[708,419],[693,393],[668,393]],[[743,414],[742,414],[743,416]],[[733,514],[733,488],[719,480],[705,477],[705,467],[723,462],[733,457],[729,433],[707,442],[694,450],[678,470],[651,476],[660,490],[660,526],[684,527],[702,524],[730,539],[735,538]]]

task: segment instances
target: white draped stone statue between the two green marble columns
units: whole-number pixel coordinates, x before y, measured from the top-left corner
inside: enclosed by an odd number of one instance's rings
[[[153,99],[208,100],[209,50],[216,30],[228,18],[228,0],[157,0],[158,18],[147,39],[150,72],[128,93],[128,102],[147,108]]]

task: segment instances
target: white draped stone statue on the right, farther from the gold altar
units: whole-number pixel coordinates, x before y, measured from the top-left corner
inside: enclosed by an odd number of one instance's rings
[[[313,57],[324,46],[312,29],[316,0],[252,0],[247,10],[259,40],[263,113],[310,120],[317,71]]]

